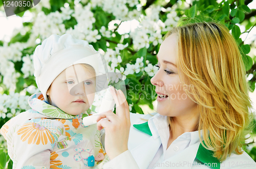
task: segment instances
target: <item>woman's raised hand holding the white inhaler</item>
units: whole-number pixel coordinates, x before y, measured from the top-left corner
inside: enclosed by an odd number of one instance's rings
[[[96,121],[98,130],[105,128],[105,151],[113,159],[128,150],[131,122],[129,105],[123,92],[111,87],[110,93],[116,102],[116,114],[111,110],[103,112]]]

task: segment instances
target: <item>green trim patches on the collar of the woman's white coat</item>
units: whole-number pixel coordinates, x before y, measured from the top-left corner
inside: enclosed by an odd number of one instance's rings
[[[134,124],[133,126],[136,129],[152,136],[150,127],[148,127],[148,122],[145,122],[142,124]],[[204,141],[203,141],[203,144],[205,144]],[[205,149],[203,145],[200,143],[196,158],[202,163],[210,164],[211,165],[210,167],[213,169],[220,169],[221,163],[218,161],[216,157],[212,156],[213,154],[214,154],[213,151]]]

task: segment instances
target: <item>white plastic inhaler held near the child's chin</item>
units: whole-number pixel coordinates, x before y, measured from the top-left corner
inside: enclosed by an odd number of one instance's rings
[[[110,93],[110,88],[108,88],[106,90],[105,96],[102,99],[102,102],[101,102],[101,105],[99,108],[99,112],[96,114],[93,114],[91,116],[84,117],[82,119],[83,125],[90,126],[92,124],[96,124],[97,123],[96,119],[98,118],[98,115],[101,114],[102,112],[112,110],[114,105],[115,105],[115,100]]]

